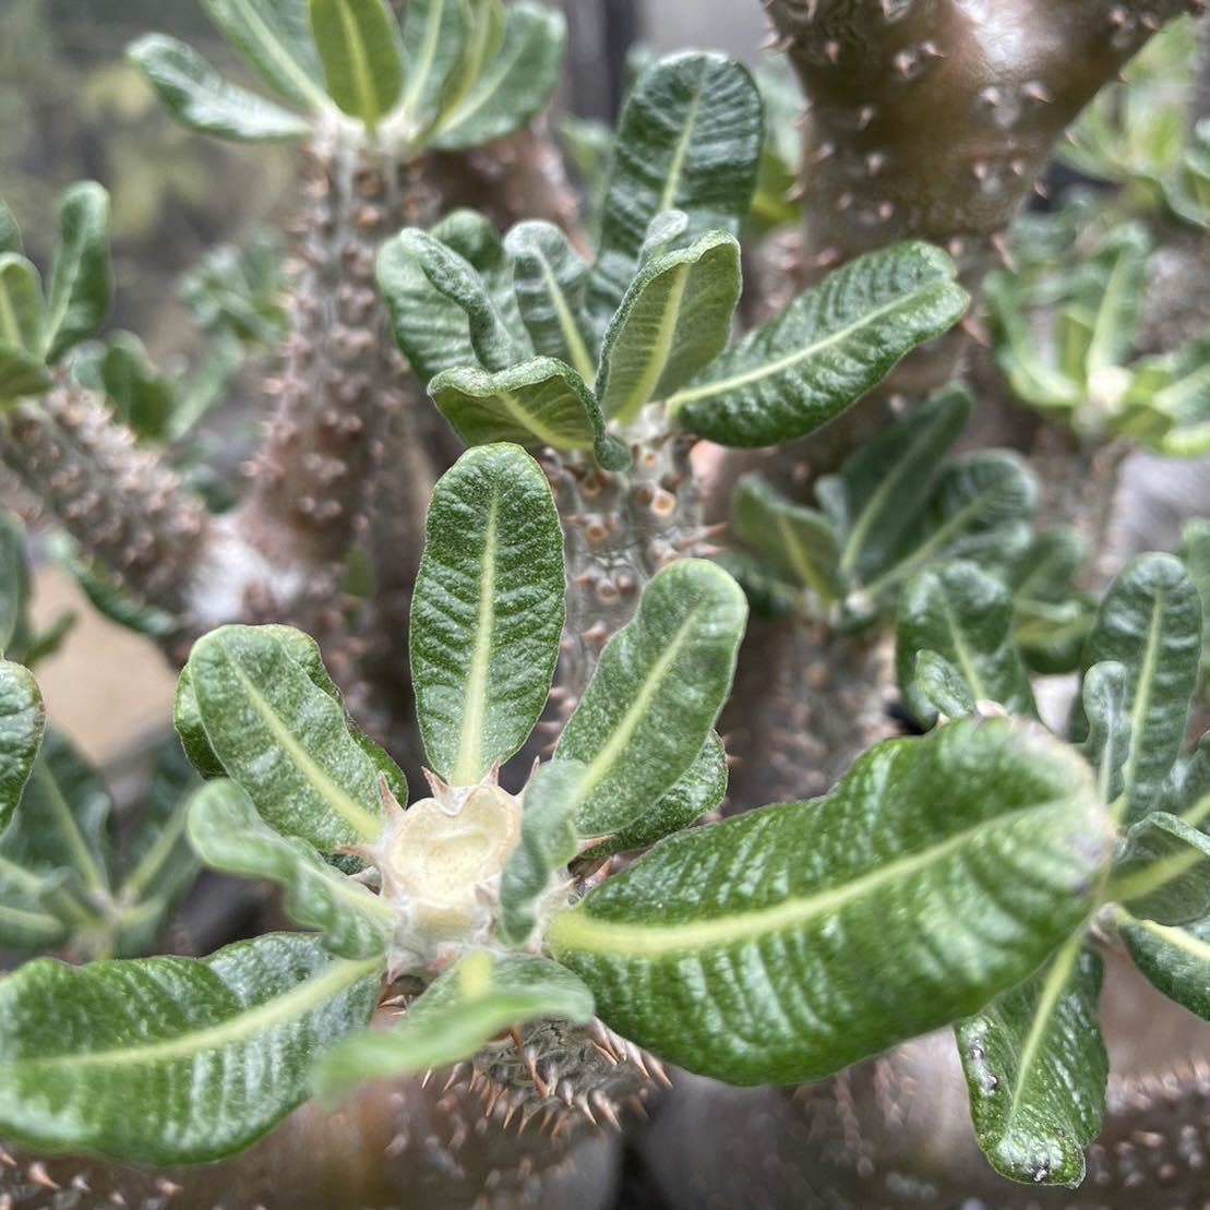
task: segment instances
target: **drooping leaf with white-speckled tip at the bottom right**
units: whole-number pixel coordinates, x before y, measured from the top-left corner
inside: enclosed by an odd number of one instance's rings
[[[1001,1176],[1076,1188],[1101,1133],[1110,1061],[1101,960],[1072,938],[1041,974],[957,1026],[975,1136]]]

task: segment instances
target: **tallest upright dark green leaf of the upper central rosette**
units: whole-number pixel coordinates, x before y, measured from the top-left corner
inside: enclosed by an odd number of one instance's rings
[[[647,227],[684,211],[687,238],[739,234],[761,150],[761,100],[747,69],[721,54],[678,54],[636,81],[618,127],[589,307],[609,323],[639,270]]]

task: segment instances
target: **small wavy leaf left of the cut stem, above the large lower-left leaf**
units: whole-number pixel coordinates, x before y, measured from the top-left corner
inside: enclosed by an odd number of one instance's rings
[[[321,933],[333,953],[386,953],[391,905],[334,870],[306,841],[273,831],[234,782],[209,782],[197,793],[189,807],[189,840],[214,870],[276,882],[286,892],[286,915]]]

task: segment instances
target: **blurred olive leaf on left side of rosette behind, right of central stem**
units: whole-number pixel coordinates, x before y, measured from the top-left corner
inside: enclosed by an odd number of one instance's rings
[[[823,513],[745,474],[733,501],[736,535],[825,604],[836,599],[836,534]]]

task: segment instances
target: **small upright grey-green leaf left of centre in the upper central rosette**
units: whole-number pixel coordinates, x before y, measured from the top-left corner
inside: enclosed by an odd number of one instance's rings
[[[518,223],[505,247],[517,261],[517,301],[535,350],[594,381],[595,338],[584,310],[588,266],[553,223]]]

